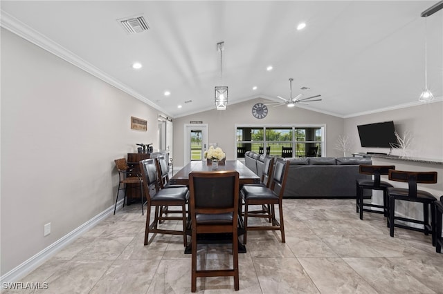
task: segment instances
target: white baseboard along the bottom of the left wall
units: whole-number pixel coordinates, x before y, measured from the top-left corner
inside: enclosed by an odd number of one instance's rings
[[[123,200],[124,199],[121,199],[119,202],[117,202],[117,210],[122,208]],[[93,226],[96,226],[96,224],[102,222],[103,219],[105,219],[112,213],[114,213],[114,205],[103,210],[101,213],[89,219],[89,221],[85,222],[78,228],[75,228],[70,233],[64,235],[33,257],[30,257],[25,262],[22,262],[19,266],[12,268],[11,271],[0,277],[0,284],[19,281],[22,277],[25,277],[30,272],[34,271],[35,268],[41,266],[44,262],[53,257],[57,252],[61,251],[64,247],[71,244],[71,242],[80,237],[82,233],[88,231]]]

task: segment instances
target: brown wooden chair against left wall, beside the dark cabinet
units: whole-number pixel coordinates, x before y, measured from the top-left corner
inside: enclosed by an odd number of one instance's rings
[[[127,166],[127,161],[125,158],[120,158],[114,160],[116,167],[118,169],[118,188],[116,196],[116,205],[114,206],[114,215],[116,214],[117,202],[118,202],[118,192],[125,189],[125,196],[123,197],[123,207],[125,207],[125,199],[127,193],[127,184],[139,184],[140,185],[140,195],[141,195],[141,214],[143,215],[143,179],[141,173],[134,173],[131,168]]]

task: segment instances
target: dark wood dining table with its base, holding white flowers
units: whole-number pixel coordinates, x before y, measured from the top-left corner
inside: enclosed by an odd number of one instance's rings
[[[176,173],[173,177],[170,178],[171,185],[188,185],[189,184],[189,174],[192,171],[218,171],[218,170],[237,170],[239,173],[239,185],[240,188],[244,184],[259,184],[260,177],[255,175],[255,173],[247,168],[244,164],[242,164],[239,160],[226,160],[223,164],[219,164],[217,168],[213,168],[208,161],[190,161],[189,164],[183,166],[178,173]],[[242,200],[240,199],[240,205]],[[241,206],[240,206],[241,207]],[[238,235],[241,236],[244,234],[244,224],[242,215],[239,213],[239,227],[238,227]],[[186,235],[191,235],[190,231],[190,222],[188,222],[186,228]],[[199,243],[230,243],[232,242],[232,234],[201,234],[197,236],[199,239]],[[192,244],[188,244],[185,248],[185,254],[191,253]],[[246,253],[246,246],[242,244],[242,242],[238,242],[238,252]]]

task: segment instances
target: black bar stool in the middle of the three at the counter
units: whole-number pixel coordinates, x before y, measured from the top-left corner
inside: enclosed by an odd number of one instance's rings
[[[407,182],[408,188],[388,188],[389,197],[389,218],[388,226],[390,228],[390,236],[394,237],[394,227],[406,228],[413,231],[424,232],[428,235],[432,234],[432,244],[435,245],[435,200],[431,193],[424,190],[417,190],[417,183],[435,184],[437,183],[437,172],[410,172],[401,170],[389,170],[388,177],[391,181]],[[419,202],[423,204],[423,220],[411,219],[408,217],[395,216],[395,200],[403,200],[409,202]],[[431,225],[429,224],[429,206],[431,206]],[[415,228],[404,224],[395,224],[395,219],[403,222],[412,222],[422,224],[424,228]]]

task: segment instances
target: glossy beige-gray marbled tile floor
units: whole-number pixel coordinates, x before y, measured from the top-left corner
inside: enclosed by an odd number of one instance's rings
[[[359,219],[355,200],[284,199],[284,217],[285,244],[277,232],[248,233],[237,293],[443,293],[431,237],[396,228],[392,238],[382,215]],[[143,246],[144,227],[140,206],[125,206],[21,280],[48,289],[21,293],[190,293],[182,238]],[[199,254],[206,268],[232,260],[227,244],[199,245]],[[234,293],[232,277],[198,279],[197,292]]]

